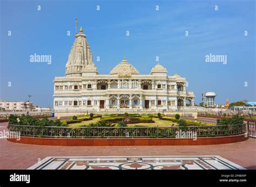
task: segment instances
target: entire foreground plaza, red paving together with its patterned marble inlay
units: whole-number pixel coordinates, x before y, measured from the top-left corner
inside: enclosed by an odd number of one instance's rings
[[[0,123],[1,131],[6,131],[8,123]],[[134,169],[141,166],[146,169],[163,169],[159,167],[160,163],[166,162],[166,167],[170,169],[197,169],[195,167],[203,166],[205,169],[228,169],[227,166],[235,167],[230,169],[256,169],[256,139],[250,138],[246,141],[238,143],[228,143],[221,145],[207,145],[207,146],[122,146],[122,147],[65,147],[65,146],[38,146],[38,145],[25,145],[21,143],[12,143],[6,139],[0,139],[0,169],[35,169],[33,166],[41,166],[43,163],[49,162],[53,159],[65,159],[65,163],[62,165],[62,169],[67,169],[65,166],[76,163],[72,169],[78,169],[77,163],[96,163],[101,162],[113,163],[122,158],[126,163],[124,168]],[[89,162],[86,157],[91,157]],[[100,157],[106,157],[107,159],[100,159]],[[123,157],[120,157],[123,156]],[[186,156],[186,157],[184,157]],[[58,158],[64,157],[64,158]],[[78,157],[84,157],[84,159],[78,159]],[[134,157],[134,160],[132,160]],[[99,158],[99,163],[98,159]],[[147,159],[151,159],[151,161]],[[199,161],[203,158],[203,161]],[[129,160],[130,159],[130,160]],[[210,160],[210,164],[206,164]],[[219,161],[216,161],[219,159]],[[165,160],[165,161],[164,161]],[[79,161],[79,162],[78,162]],[[223,162],[224,161],[224,162]],[[61,161],[60,161],[61,162]],[[60,163],[59,162],[59,163]],[[127,163],[132,162],[132,163]],[[143,162],[143,163],[142,163]],[[182,163],[183,162],[183,163]],[[105,163],[102,164],[105,166]],[[135,164],[134,164],[135,163]],[[184,164],[186,163],[186,164]],[[224,164],[225,163],[225,164]],[[228,164],[226,164],[228,163]],[[37,164],[37,165],[35,165]],[[120,164],[117,164],[119,167]],[[130,166],[128,166],[130,164]],[[132,165],[131,165],[132,164]],[[158,166],[156,167],[156,164]],[[100,165],[100,167],[102,166]],[[170,166],[171,165],[171,166]],[[175,166],[176,165],[176,166]],[[212,166],[211,166],[212,165]],[[225,166],[227,165],[227,166]],[[57,166],[57,165],[55,165]],[[123,166],[123,165],[122,165]],[[194,167],[192,167],[194,166]],[[43,166],[41,166],[43,167]],[[91,165],[82,164],[82,169],[92,169]],[[97,166],[96,166],[97,167]],[[106,166],[113,169],[114,166]],[[130,168],[129,168],[130,167]],[[210,167],[210,168],[209,168]],[[215,168],[214,168],[215,167]],[[57,169],[53,167],[53,169]],[[99,168],[100,169],[100,168]],[[117,169],[117,168],[116,168]]]

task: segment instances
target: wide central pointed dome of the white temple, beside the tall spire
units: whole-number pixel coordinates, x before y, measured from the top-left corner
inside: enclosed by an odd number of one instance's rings
[[[134,68],[132,66],[132,64],[130,64],[129,62],[127,62],[127,60],[124,59],[122,60],[122,62],[120,62],[119,64],[117,64],[116,67],[114,67],[111,71],[110,71],[110,75],[114,75],[114,74],[118,74],[118,75],[139,75],[139,71]]]

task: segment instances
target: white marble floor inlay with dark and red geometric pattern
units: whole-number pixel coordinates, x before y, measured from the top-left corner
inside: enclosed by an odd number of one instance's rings
[[[60,156],[46,157],[28,169],[245,169],[221,156]]]

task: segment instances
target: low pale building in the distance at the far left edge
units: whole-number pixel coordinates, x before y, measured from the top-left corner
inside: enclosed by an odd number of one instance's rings
[[[3,101],[0,100],[0,110],[1,111],[29,111],[32,109],[33,103],[25,101],[25,102],[17,102],[17,101]]]

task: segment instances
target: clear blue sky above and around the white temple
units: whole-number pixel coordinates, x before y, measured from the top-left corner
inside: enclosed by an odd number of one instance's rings
[[[206,91],[217,93],[218,104],[226,98],[230,102],[256,100],[253,0],[2,0],[1,99],[28,100],[32,95],[34,104],[52,106],[53,79],[65,75],[75,40],[75,18],[83,27],[100,74],[109,74],[123,56],[140,74],[149,74],[159,56],[169,75],[186,77],[186,89],[194,91],[197,104]],[[31,63],[30,55],[35,53],[51,55],[51,64]],[[210,53],[227,55],[227,64],[206,63],[205,55]]]

